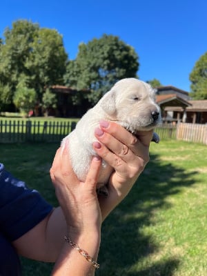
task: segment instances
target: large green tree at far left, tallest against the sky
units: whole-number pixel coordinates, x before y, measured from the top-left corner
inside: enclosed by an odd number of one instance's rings
[[[63,84],[68,56],[57,30],[19,20],[11,29],[6,28],[4,37],[0,44],[0,79],[13,94],[21,75],[28,78],[27,87],[36,90],[39,101],[46,86]]]

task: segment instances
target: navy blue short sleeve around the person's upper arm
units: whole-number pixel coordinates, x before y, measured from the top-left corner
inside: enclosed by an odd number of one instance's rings
[[[10,242],[39,224],[52,206],[0,164],[0,232]]]

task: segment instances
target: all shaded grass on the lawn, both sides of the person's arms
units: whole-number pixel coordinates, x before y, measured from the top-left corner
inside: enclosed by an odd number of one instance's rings
[[[0,144],[1,161],[15,176],[39,190],[46,200],[55,204],[55,193],[48,170],[58,146]],[[160,254],[161,245],[143,228],[159,224],[155,221],[155,213],[161,208],[171,208],[167,197],[176,195],[184,186],[193,186],[194,175],[195,172],[187,174],[182,168],[161,163],[158,155],[150,155],[150,162],[139,177],[137,185],[103,224],[100,268],[96,276],[174,274],[179,267],[179,258],[170,254],[169,257],[161,255],[150,259],[150,255]],[[53,266],[27,259],[23,259],[22,264],[23,275],[26,276],[50,275]]]

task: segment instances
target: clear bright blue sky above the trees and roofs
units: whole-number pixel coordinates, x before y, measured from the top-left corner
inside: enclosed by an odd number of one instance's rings
[[[207,52],[206,0],[3,0],[0,37],[13,21],[28,19],[63,35],[70,59],[79,43],[112,34],[139,56],[139,78],[190,91],[189,74]]]

